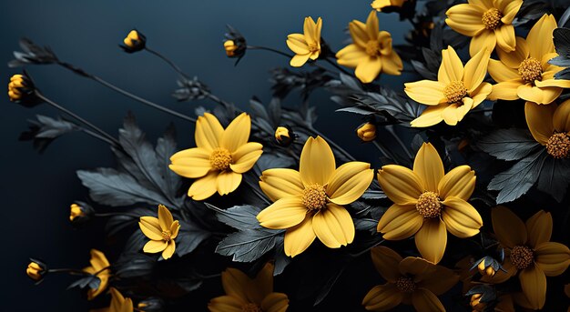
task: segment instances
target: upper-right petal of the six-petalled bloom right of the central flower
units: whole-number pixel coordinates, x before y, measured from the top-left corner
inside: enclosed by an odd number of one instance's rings
[[[470,166],[456,166],[443,176],[437,189],[443,199],[454,196],[468,200],[475,189],[475,172]]]

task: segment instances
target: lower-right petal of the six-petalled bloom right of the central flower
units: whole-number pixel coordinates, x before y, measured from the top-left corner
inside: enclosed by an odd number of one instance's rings
[[[471,204],[458,197],[447,197],[443,201],[442,220],[449,233],[456,237],[473,237],[483,226],[483,219]]]

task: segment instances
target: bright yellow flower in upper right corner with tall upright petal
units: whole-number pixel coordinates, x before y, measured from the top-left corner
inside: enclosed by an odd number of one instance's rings
[[[522,98],[537,104],[550,104],[563,88],[570,87],[570,80],[555,79],[563,67],[548,63],[558,56],[553,40],[556,28],[553,15],[544,15],[526,36],[516,37],[514,52],[497,50],[500,61],[489,62],[489,74],[497,82],[489,95],[492,100],[516,100]]]

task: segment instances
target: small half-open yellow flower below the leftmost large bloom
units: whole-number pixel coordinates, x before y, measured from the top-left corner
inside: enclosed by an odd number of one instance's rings
[[[180,224],[174,221],[168,208],[158,205],[158,218],[154,216],[141,216],[138,222],[143,234],[150,238],[143,251],[149,254],[162,252],[162,257],[166,260],[174,254]]]

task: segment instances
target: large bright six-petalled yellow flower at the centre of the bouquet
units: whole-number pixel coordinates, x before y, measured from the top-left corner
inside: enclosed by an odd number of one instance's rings
[[[315,237],[330,248],[354,239],[354,223],[342,205],[360,198],[372,183],[370,164],[350,162],[336,167],[331,146],[321,136],[309,137],[300,153],[299,171],[269,169],[260,186],[274,202],[258,215],[261,226],[287,229],[285,254],[295,257]]]

